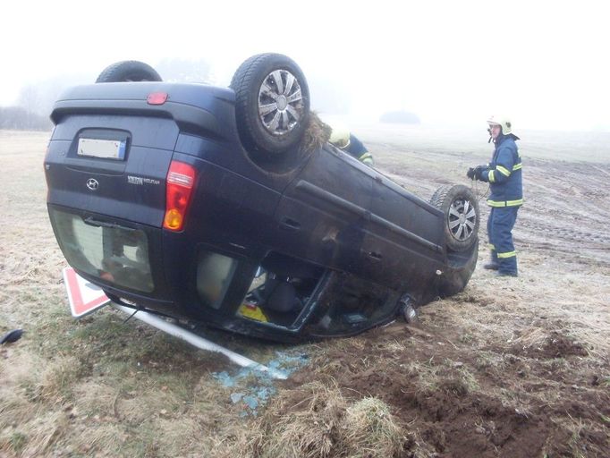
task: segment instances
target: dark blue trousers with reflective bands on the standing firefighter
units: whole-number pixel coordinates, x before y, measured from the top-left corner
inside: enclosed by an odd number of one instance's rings
[[[500,274],[517,274],[517,253],[513,245],[513,226],[519,207],[493,207],[487,219],[491,260]]]

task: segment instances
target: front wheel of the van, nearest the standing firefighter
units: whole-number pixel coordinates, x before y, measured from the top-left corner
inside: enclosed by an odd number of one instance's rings
[[[479,241],[479,201],[469,188],[462,184],[442,186],[430,203],[445,214],[445,242],[449,250],[466,251]]]

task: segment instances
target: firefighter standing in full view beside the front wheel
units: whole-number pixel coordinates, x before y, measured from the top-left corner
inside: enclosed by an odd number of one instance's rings
[[[487,165],[468,169],[471,180],[489,182],[491,207],[487,219],[487,237],[491,261],[483,267],[497,270],[499,276],[517,276],[517,253],[513,245],[513,226],[523,204],[521,157],[513,133],[512,123],[505,117],[491,116],[487,120],[490,138],[494,141],[494,155]]]

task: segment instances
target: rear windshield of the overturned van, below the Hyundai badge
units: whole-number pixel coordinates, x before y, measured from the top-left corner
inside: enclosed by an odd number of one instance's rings
[[[72,267],[132,290],[154,290],[146,233],[56,208],[49,212],[59,246]]]

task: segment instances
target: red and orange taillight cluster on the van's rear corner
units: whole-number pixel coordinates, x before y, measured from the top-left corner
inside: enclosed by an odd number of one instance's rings
[[[192,165],[172,161],[167,172],[163,227],[182,231],[197,173]]]

